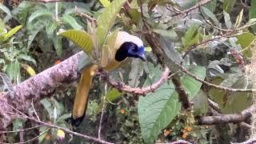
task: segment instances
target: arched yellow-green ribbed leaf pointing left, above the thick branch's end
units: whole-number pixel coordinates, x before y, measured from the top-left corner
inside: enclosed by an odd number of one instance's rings
[[[90,38],[90,35],[83,30],[66,30],[59,33],[62,37],[70,39],[74,44],[78,45],[86,52],[90,54],[93,50],[93,40]]]

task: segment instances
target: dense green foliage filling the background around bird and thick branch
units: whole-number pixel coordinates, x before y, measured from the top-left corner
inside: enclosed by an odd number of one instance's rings
[[[254,136],[254,0],[3,1],[0,11],[2,90],[79,50],[97,63],[90,52],[104,51],[106,35],[117,30],[142,38],[147,56],[111,72],[114,82],[94,78],[81,126],[70,125],[77,81],[59,83],[22,113],[65,129],[23,116],[2,130],[14,132],[0,133],[0,142],[88,142],[67,130],[114,143],[230,143]]]

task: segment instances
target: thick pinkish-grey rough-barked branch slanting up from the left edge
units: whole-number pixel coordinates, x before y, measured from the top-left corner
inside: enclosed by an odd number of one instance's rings
[[[5,94],[1,94],[0,130],[4,130],[13,120],[9,114],[6,114],[8,111],[12,111],[11,107],[6,105],[6,102],[16,109],[26,112],[31,106],[32,99],[33,102],[38,102],[38,100],[53,94],[62,83],[76,80],[79,76],[77,68],[81,54],[82,52],[74,54],[58,65],[52,66],[17,86],[14,86],[14,98],[9,98],[6,97]]]

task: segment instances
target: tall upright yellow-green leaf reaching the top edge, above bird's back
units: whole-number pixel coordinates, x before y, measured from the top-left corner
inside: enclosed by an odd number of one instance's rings
[[[121,10],[125,2],[126,0],[114,0],[98,18],[96,36],[99,48],[102,48],[103,44],[105,43],[106,36],[109,33],[112,25],[114,24],[114,20],[117,17],[117,14]]]

